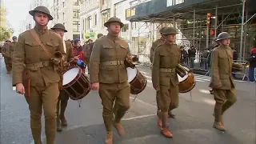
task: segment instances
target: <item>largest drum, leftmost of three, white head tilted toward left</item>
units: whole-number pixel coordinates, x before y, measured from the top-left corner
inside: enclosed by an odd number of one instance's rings
[[[73,67],[63,74],[63,89],[73,100],[84,98],[90,92],[90,81],[79,67]]]

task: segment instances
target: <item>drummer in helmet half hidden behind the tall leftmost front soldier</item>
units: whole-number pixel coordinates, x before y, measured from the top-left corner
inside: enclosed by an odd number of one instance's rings
[[[66,53],[66,60],[64,62],[65,67],[63,70],[66,71],[69,68],[69,62],[77,62],[77,58],[74,59],[74,56],[73,56],[71,42],[64,41],[63,39],[64,33],[66,33],[67,30],[65,26],[62,25],[61,23],[57,23],[56,25],[54,25],[54,27],[51,28],[51,30],[54,30],[55,33],[59,34],[62,38],[64,51]],[[65,118],[65,110],[66,110],[68,100],[69,100],[68,94],[66,94],[64,90],[61,90],[58,97],[58,104],[57,104],[57,130],[58,131],[62,131],[62,126],[67,126],[67,122]]]

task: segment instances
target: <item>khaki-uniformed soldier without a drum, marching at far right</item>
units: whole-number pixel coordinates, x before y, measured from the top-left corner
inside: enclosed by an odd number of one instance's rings
[[[222,32],[217,38],[220,46],[211,57],[210,87],[214,90],[214,128],[225,130],[222,115],[237,101],[232,76],[233,50],[230,48],[230,34]]]

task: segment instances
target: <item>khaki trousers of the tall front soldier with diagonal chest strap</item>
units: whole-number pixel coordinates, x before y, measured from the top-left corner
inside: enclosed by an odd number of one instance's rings
[[[58,83],[52,83],[50,86],[46,87],[30,87],[30,98],[26,98],[26,101],[30,108],[30,128],[35,144],[42,144],[42,108],[45,116],[46,143],[54,144],[58,94]]]

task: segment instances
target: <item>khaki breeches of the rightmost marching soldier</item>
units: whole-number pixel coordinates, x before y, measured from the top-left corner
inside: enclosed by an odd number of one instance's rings
[[[222,114],[237,101],[234,88],[231,90],[214,89],[214,99],[216,101],[214,107],[215,122],[222,121]]]

